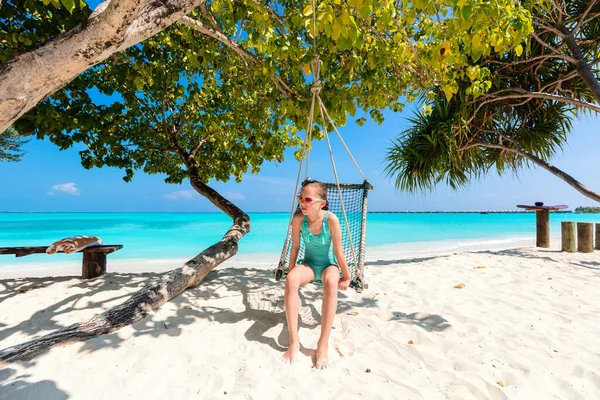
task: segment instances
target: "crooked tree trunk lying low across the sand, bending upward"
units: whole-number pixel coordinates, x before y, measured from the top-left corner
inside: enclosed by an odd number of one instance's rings
[[[197,286],[202,279],[223,261],[237,253],[238,241],[250,232],[250,218],[233,203],[202,183],[197,171],[190,171],[192,186],[233,219],[233,226],[223,239],[210,246],[182,267],[166,273],[160,282],[146,286],[124,303],[85,322],[74,324],[40,338],[0,351],[0,366],[17,360],[30,359],[55,345],[87,340],[114,332],[142,320],[184,290]]]

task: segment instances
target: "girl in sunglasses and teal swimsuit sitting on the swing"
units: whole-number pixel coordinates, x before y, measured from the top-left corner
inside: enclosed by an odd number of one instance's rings
[[[323,282],[321,336],[317,343],[316,368],[328,366],[329,334],[337,308],[337,290],[346,290],[350,272],[342,252],[342,235],[338,218],[328,211],[327,188],[321,182],[305,181],[300,196],[300,212],[292,221],[292,250],[290,271],[285,281],[285,315],[290,335],[290,347],[283,357],[290,363],[300,350],[298,338],[298,288],[313,279]],[[296,264],[300,238],[304,241],[304,259]],[[330,256],[333,245],[334,258]],[[337,260],[337,261],[336,261]],[[340,270],[342,278],[340,278]]]

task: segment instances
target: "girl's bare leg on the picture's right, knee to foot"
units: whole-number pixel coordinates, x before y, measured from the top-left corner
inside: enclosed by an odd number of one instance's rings
[[[333,318],[337,309],[337,285],[340,270],[335,265],[325,268],[321,274],[323,281],[323,308],[321,309],[321,337],[317,344],[317,364],[319,369],[327,368],[329,363],[329,334],[333,326]]]

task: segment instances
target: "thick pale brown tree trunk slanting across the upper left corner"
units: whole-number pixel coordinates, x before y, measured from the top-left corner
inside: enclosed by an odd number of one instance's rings
[[[0,67],[0,134],[89,67],[154,36],[204,2],[105,0],[85,23],[5,62]]]

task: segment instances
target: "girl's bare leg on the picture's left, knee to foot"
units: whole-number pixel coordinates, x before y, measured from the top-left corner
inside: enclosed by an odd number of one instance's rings
[[[298,289],[315,278],[312,268],[307,265],[299,264],[292,268],[285,278],[285,318],[288,323],[288,332],[290,335],[290,347],[283,354],[290,363],[294,361],[296,354],[300,350],[300,339],[298,338],[298,312],[300,309],[300,299],[298,298]]]

